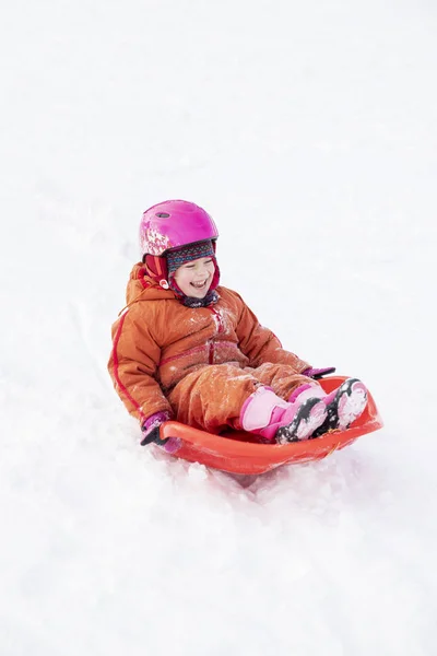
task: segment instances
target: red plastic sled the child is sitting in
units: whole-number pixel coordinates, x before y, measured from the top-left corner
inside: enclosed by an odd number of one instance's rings
[[[319,380],[330,393],[345,380],[345,376],[330,376]],[[258,436],[245,431],[228,430],[220,435],[200,431],[177,421],[167,421],[161,427],[161,438],[179,437],[181,447],[174,454],[189,462],[231,473],[258,475],[282,465],[308,462],[326,458],[332,452],[349,446],[361,435],[382,427],[376,403],[368,393],[365,411],[345,431],[330,431],[320,437],[291,444],[259,444]]]

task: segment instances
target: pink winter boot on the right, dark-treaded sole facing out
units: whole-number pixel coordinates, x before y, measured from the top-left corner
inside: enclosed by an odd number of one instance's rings
[[[327,418],[312,436],[319,437],[332,430],[345,431],[364,412],[367,389],[358,378],[347,378],[324,397]]]

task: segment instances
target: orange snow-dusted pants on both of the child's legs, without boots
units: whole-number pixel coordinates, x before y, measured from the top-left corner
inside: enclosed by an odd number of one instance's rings
[[[211,364],[191,372],[168,394],[175,419],[209,433],[226,427],[240,429],[239,415],[246,399],[260,385],[271,387],[287,399],[299,385],[311,378],[296,374],[287,364],[265,362],[257,368],[233,364]]]

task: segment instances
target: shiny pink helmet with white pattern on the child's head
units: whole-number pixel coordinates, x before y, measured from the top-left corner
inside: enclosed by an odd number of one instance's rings
[[[216,239],[218,231],[210,214],[187,200],[165,200],[149,208],[140,224],[141,255],[162,256],[172,248]]]

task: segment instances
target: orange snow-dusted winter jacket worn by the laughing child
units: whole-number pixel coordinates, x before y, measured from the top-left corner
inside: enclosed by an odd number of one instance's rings
[[[128,411],[141,423],[160,410],[172,414],[166,395],[187,374],[208,365],[257,367],[282,363],[302,373],[309,364],[282,349],[243,298],[224,286],[209,307],[186,307],[133,267],[127,306],[113,326],[108,370]]]

